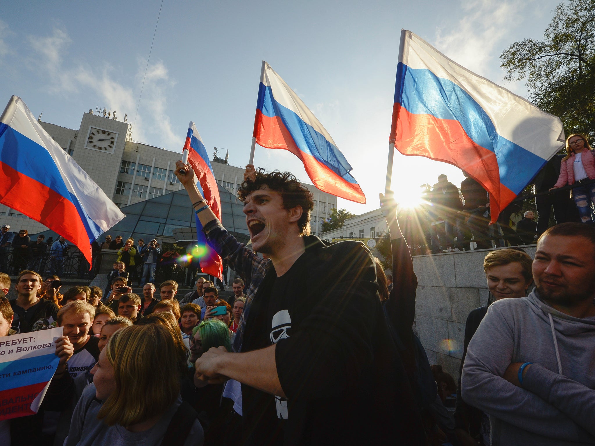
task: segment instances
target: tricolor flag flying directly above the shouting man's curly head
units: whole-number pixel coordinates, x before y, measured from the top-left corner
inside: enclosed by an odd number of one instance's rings
[[[262,147],[285,149],[301,159],[318,189],[357,203],[364,192],[330,134],[267,62],[263,62],[253,137]]]

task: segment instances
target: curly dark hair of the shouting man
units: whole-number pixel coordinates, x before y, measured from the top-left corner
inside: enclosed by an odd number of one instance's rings
[[[237,190],[237,196],[243,202],[250,193],[261,189],[265,184],[268,189],[281,193],[283,209],[302,207],[302,216],[297,221],[297,226],[300,228],[300,235],[309,235],[310,211],[314,209],[312,192],[302,186],[293,174],[278,170],[267,173],[265,169],[256,169],[256,178],[243,181],[242,186]]]

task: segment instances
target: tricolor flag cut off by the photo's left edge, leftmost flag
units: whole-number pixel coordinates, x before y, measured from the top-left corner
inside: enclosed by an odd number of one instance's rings
[[[0,117],[0,203],[74,243],[91,243],[124,218],[89,175],[12,96]]]

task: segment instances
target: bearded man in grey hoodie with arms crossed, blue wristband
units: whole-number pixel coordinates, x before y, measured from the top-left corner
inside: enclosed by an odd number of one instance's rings
[[[595,444],[595,228],[563,223],[537,242],[536,291],[488,309],[461,392],[490,414],[491,445]]]

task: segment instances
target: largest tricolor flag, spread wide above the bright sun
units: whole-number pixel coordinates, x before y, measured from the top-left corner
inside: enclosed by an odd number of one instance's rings
[[[565,142],[559,118],[402,30],[390,142],[468,172],[490,193],[491,219]]]

